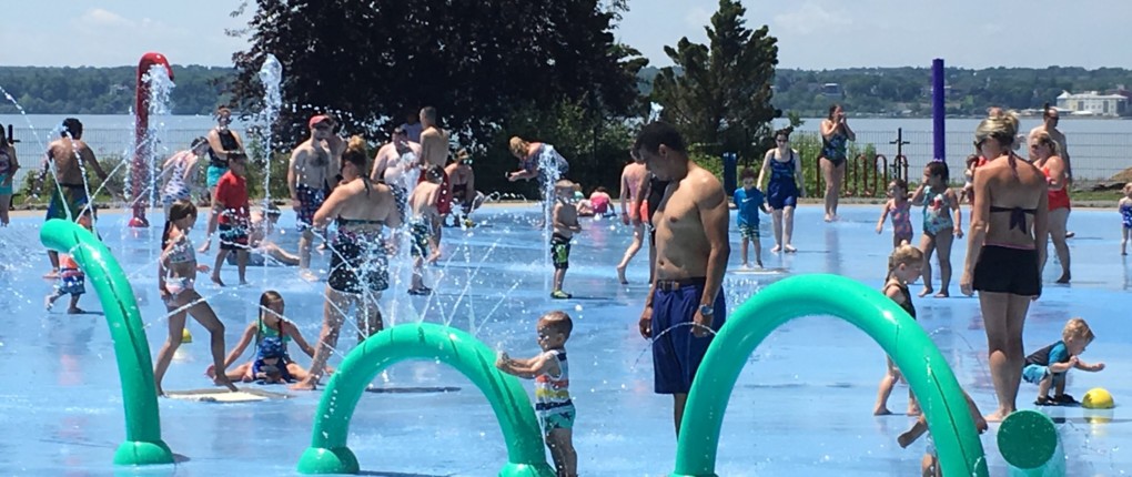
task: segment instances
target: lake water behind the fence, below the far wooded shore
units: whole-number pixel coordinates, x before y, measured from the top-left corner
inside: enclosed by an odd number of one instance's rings
[[[67,115],[63,114],[18,114],[0,115],[0,123],[14,124],[15,137],[20,142],[16,145],[17,155],[27,166],[34,165],[42,156],[44,146],[58,133],[58,127]],[[126,155],[131,150],[134,138],[134,116],[129,114],[88,114],[80,115],[85,127],[84,139],[100,156]],[[161,150],[172,154],[186,148],[196,137],[208,131],[215,121],[212,116],[179,115],[155,119],[161,125]],[[1039,116],[1022,119],[1021,131],[1027,132],[1040,124]],[[963,118],[946,121],[947,163],[962,166],[963,159],[971,153],[975,128],[979,119]],[[786,125],[777,121],[777,125]],[[805,132],[816,132],[821,119],[806,119],[800,128]],[[908,157],[912,171],[918,171],[934,154],[932,145],[932,119],[899,118],[861,118],[850,119],[849,125],[857,133],[857,145],[872,144],[877,153],[892,159],[897,155],[897,129],[903,129],[904,145],[902,153]],[[233,129],[243,133],[246,123],[237,121]],[[34,132],[33,129],[34,128]],[[1132,121],[1066,118],[1060,129],[1069,138],[1069,149],[1073,159],[1073,171],[1078,179],[1106,180],[1132,165],[1129,151],[1132,150]],[[246,136],[246,135],[245,135]],[[275,144],[286,145],[300,139],[276,138]],[[1024,151],[1023,151],[1024,153]],[[31,158],[31,159],[29,159]],[[812,159],[812,158],[806,158]]]

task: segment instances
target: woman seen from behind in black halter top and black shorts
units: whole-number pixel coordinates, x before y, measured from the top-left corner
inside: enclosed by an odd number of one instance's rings
[[[975,203],[967,261],[959,287],[979,290],[989,348],[990,378],[998,408],[989,422],[1015,410],[1026,353],[1022,327],[1030,302],[1041,294],[1049,209],[1046,177],[1011,150],[1018,116],[994,114],[975,131],[976,147],[988,161],[975,170]]]

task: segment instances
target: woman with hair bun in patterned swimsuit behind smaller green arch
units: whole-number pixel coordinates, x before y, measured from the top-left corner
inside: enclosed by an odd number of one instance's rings
[[[345,322],[345,313],[358,307],[358,342],[381,330],[381,312],[377,301],[389,287],[388,258],[381,231],[400,227],[401,215],[393,191],[367,177],[366,141],[350,138],[342,154],[342,182],[315,213],[315,226],[325,227],[332,220],[337,234],[331,242],[331,274],[323,307],[323,332],[310,363],[307,379],[292,389],[315,389]]]

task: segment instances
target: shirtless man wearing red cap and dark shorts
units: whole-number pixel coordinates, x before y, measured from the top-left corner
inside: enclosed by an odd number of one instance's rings
[[[291,191],[291,206],[298,215],[299,233],[302,234],[299,236],[299,276],[308,281],[315,281],[318,277],[310,271],[310,245],[315,240],[311,225],[315,213],[326,201],[331,183],[335,182],[331,177],[334,122],[328,116],[319,114],[311,118],[307,127],[310,129],[310,138],[291,153],[286,185]]]

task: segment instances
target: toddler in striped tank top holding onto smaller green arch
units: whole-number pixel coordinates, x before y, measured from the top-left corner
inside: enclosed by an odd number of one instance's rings
[[[534,410],[558,477],[575,477],[577,452],[574,451],[573,427],[576,413],[569,397],[569,364],[566,362],[566,340],[574,323],[566,312],[552,311],[539,318],[537,327],[542,353],[529,359],[513,359],[501,353],[496,367],[518,378],[534,379]]]

